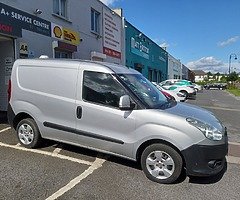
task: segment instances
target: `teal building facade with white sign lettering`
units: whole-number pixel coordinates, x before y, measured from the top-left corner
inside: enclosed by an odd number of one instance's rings
[[[124,27],[125,65],[136,69],[152,82],[167,79],[167,52],[126,20]]]

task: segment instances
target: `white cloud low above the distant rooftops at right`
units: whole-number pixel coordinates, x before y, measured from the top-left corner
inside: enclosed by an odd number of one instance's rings
[[[203,57],[196,61],[191,61],[186,65],[189,69],[203,70],[205,72],[220,72],[226,73],[228,71],[228,64],[217,60],[213,56]]]

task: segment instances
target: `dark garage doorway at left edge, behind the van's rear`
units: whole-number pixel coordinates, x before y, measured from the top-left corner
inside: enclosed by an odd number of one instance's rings
[[[0,111],[7,111],[7,89],[14,60],[14,39],[0,35]]]

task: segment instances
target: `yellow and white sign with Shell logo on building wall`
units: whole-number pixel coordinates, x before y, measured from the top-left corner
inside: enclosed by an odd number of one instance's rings
[[[72,45],[79,45],[80,43],[80,36],[78,32],[54,23],[52,23],[52,37]]]

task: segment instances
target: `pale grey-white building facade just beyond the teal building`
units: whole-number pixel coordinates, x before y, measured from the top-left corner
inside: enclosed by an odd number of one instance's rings
[[[182,64],[171,54],[168,54],[168,79],[182,79]]]

